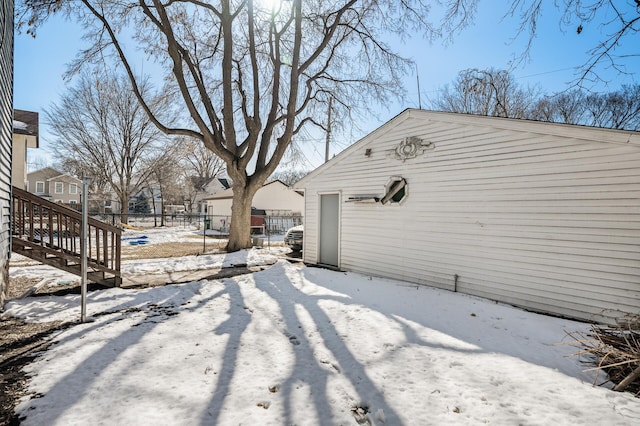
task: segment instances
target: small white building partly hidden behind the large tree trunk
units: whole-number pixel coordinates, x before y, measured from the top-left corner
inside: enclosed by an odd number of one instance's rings
[[[207,197],[207,216],[212,219],[212,228],[228,225],[233,203],[233,189],[229,188]],[[258,189],[252,207],[260,215],[273,217],[302,216],[304,196],[279,180],[271,181]]]

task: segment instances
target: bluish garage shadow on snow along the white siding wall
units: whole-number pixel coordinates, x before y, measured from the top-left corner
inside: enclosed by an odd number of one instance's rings
[[[344,285],[344,280],[335,280],[331,274],[347,275],[347,281],[354,284]],[[583,374],[574,360],[570,359],[570,355],[575,353],[574,347],[564,345],[566,353],[563,358],[539,350],[538,333],[541,327],[548,326],[557,331],[557,340],[545,342],[550,351],[557,353],[557,347],[552,347],[561,344],[562,341],[570,342],[559,324],[568,323],[575,326],[575,329],[581,329],[588,326],[585,323],[527,312],[489,299],[384,278],[376,278],[380,285],[376,291],[370,293],[370,277],[359,273],[333,272],[308,267],[300,271],[300,277],[343,294],[351,304],[374,309],[392,319],[403,329],[407,343],[458,352],[501,353],[528,363],[557,369],[570,376],[581,376],[587,381],[593,379]],[[382,302],[380,293],[376,293],[380,291],[386,292],[382,293]],[[414,298],[414,294],[419,296]],[[428,301],[427,305],[417,305],[425,300]],[[427,329],[450,337],[451,346],[438,343],[439,339],[426,340],[418,336],[416,329]],[[514,344],[514,338],[517,344]],[[533,347],[529,346],[529,343]],[[465,347],[467,349],[464,349]]]

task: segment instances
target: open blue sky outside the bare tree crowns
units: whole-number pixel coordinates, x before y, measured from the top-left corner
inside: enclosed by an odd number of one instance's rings
[[[459,71],[489,67],[506,69],[514,55],[522,53],[525,37],[521,36],[513,41],[517,20],[503,19],[507,6],[498,7],[496,3],[498,2],[481,2],[475,23],[446,45],[442,41],[429,43],[419,36],[406,44],[398,45],[398,50],[403,55],[416,61],[423,107],[428,106],[429,99],[433,98],[443,85],[451,83]],[[557,11],[551,6],[546,7],[543,19],[539,23],[530,61],[512,72],[520,84],[537,85],[543,92],[552,93],[567,88],[575,79],[576,67],[589,59],[588,50],[603,36],[602,29],[597,25],[586,25],[579,35],[574,26],[562,28]],[[630,41],[631,39],[627,40],[627,44]],[[66,64],[73,60],[78,49],[85,43],[81,39],[80,28],[61,18],[49,20],[38,31],[35,39],[26,34],[16,34],[14,106],[42,114],[45,108],[53,102],[58,102],[69,84],[63,79]],[[593,90],[616,90],[622,84],[640,83],[638,75],[634,73],[634,70],[640,69],[640,58],[629,59],[626,65],[630,71],[628,75],[606,68],[599,70],[600,75],[609,83],[599,83],[593,86]],[[381,120],[367,123],[365,131],[375,129],[405,108],[418,107],[415,74],[407,76],[404,84],[409,93],[408,103],[389,105],[386,110],[380,111]],[[31,150],[29,155],[31,158],[47,161],[50,157],[47,149],[51,135],[46,124],[42,122],[43,118],[41,116],[41,148]],[[361,136],[364,135],[354,135],[354,140],[336,141],[332,147],[332,155]],[[321,164],[324,156],[323,141],[323,138],[318,138],[316,143],[309,143],[304,147],[307,156],[305,168],[311,169]]]

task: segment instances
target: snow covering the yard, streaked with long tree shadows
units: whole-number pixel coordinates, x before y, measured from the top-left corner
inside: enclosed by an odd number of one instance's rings
[[[565,331],[586,324],[275,254],[206,256],[273,264],[252,275],[91,292],[93,321],[53,336],[28,366],[23,424],[639,424],[640,399],[594,387],[571,356]],[[77,321],[79,305],[27,298],[4,315]]]

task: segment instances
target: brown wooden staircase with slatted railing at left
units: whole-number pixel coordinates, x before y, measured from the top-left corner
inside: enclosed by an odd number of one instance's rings
[[[79,211],[12,187],[12,251],[72,274],[81,275]],[[122,231],[89,218],[87,279],[117,287],[122,283]]]

